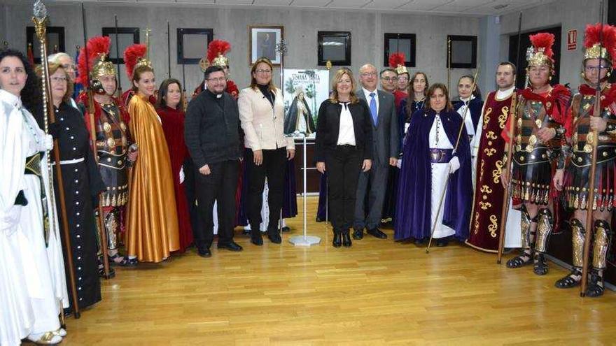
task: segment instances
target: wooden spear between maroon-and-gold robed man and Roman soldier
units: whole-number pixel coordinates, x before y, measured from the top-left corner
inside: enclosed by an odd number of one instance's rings
[[[517,55],[515,68],[517,69],[519,66],[519,53],[520,53],[520,38],[522,30],[522,13],[520,12],[518,22],[517,22]],[[517,71],[516,71],[517,75]],[[509,150],[507,150],[507,162],[505,162],[505,174],[509,177],[511,172],[511,160],[513,157],[513,138],[514,138],[514,129],[515,129],[515,115],[517,113],[517,93],[513,92],[513,100],[511,102],[511,108],[509,110],[509,118],[511,120],[510,127],[507,131],[507,135],[509,136]],[[506,143],[505,143],[506,145]],[[500,232],[498,233],[498,255],[496,257],[496,263],[500,264],[503,260],[503,248],[505,247],[505,231],[507,228],[507,217],[509,215],[509,199],[511,195],[511,183],[507,184],[505,187],[505,194],[503,195],[503,208],[500,210]]]

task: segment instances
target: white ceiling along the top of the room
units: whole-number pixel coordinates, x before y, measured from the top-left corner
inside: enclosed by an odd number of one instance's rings
[[[239,8],[311,8],[384,11],[389,13],[429,13],[441,15],[503,15],[524,8],[556,0],[83,0],[97,3],[177,3]],[[15,2],[2,1],[0,2]],[[31,0],[17,1],[20,3]],[[47,0],[46,3],[75,2],[75,0]]]

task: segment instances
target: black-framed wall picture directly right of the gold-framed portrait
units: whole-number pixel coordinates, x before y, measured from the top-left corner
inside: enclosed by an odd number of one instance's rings
[[[351,65],[351,31],[317,31],[317,65]]]

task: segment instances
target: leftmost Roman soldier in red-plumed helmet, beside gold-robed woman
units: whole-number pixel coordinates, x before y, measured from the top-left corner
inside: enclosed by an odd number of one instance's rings
[[[104,94],[105,90],[100,78],[104,75],[116,76],[116,68],[107,61],[109,57],[109,37],[99,36],[90,38],[86,50],[81,48],[79,54],[79,82],[87,85],[88,72],[90,73],[90,89],[97,94]],[[99,103],[94,98],[91,100],[94,106],[93,114],[87,113],[87,94],[81,93],[78,98],[80,106],[86,110],[85,117],[94,116],[94,129],[96,155],[98,168],[101,173],[106,190],[100,195],[103,209],[103,224],[107,232],[107,244],[109,250],[118,249],[118,234],[123,231],[125,225],[125,204],[128,199],[128,168],[132,162],[128,160],[127,153],[131,144],[128,130],[129,116],[120,101],[111,98],[111,103]],[[90,127],[88,127],[90,131]],[[114,254],[113,259],[118,254]]]

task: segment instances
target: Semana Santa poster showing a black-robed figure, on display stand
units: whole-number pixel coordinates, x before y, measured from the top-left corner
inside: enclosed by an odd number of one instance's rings
[[[316,136],[318,107],[329,97],[329,71],[284,69],[284,133],[296,138]]]

